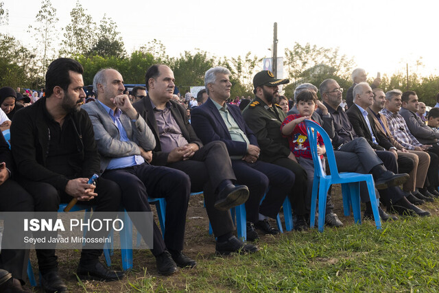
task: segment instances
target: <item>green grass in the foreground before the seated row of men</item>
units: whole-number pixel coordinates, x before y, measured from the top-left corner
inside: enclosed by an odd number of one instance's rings
[[[253,255],[198,259],[174,277],[137,278],[132,292],[436,292],[439,218],[403,218],[284,233]]]

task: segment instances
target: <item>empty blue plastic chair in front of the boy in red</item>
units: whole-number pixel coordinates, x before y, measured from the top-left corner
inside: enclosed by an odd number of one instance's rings
[[[328,189],[333,184],[342,184],[342,197],[344,215],[350,214],[350,207],[353,209],[354,221],[357,224],[361,224],[361,211],[360,211],[360,197],[359,197],[359,183],[366,181],[366,185],[369,191],[370,204],[372,205],[372,213],[375,218],[375,226],[377,229],[381,229],[381,220],[378,212],[378,202],[375,196],[375,183],[372,178],[372,174],[359,174],[353,172],[339,173],[337,169],[337,163],[335,163],[335,155],[332,148],[331,139],[324,129],[311,120],[305,120],[307,126],[307,134],[309,139],[309,145],[311,146],[311,153],[314,162],[314,180],[313,190],[311,196],[311,219],[310,226],[314,227],[316,218],[316,202],[318,195],[318,231],[323,232],[324,228],[324,215],[327,204]],[[329,163],[329,169],[331,175],[325,174],[322,161],[317,154],[317,134],[320,133],[323,139],[323,143],[327,150],[327,159]]]

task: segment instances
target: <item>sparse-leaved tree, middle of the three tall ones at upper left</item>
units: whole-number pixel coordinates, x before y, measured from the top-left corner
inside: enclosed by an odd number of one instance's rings
[[[97,43],[96,23],[90,14],[82,8],[79,1],[70,12],[71,22],[64,27],[64,40],[60,49],[61,56],[88,54]]]

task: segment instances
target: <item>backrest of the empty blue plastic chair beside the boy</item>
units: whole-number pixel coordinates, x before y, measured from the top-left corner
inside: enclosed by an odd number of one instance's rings
[[[311,154],[313,156],[314,172],[317,172],[319,177],[326,176],[322,167],[322,161],[320,160],[317,154],[317,143],[318,143],[317,134],[320,133],[320,136],[323,139],[324,146],[327,150],[327,160],[329,164],[329,170],[331,171],[331,176],[333,178],[340,177],[340,175],[338,174],[337,163],[335,162],[335,155],[334,155],[334,150],[332,148],[332,142],[327,132],[324,131],[322,126],[308,119],[305,120],[305,125],[307,126],[309,146],[311,148]]]

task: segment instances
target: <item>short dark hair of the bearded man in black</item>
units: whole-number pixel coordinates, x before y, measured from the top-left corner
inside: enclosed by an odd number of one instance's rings
[[[58,58],[50,63],[46,72],[46,97],[50,97],[54,93],[55,86],[60,86],[61,89],[67,91],[69,84],[71,84],[69,71],[82,74],[84,68],[80,62],[70,58]]]

